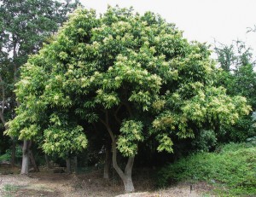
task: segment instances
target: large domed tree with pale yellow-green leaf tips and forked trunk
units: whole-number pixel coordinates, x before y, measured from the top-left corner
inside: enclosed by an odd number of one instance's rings
[[[8,134],[42,139],[46,153],[73,154],[87,146],[90,125],[112,141],[113,168],[134,191],[132,166],[139,145],[154,136],[172,153],[172,136],[236,122],[246,99],[213,87],[214,62],[202,43],[188,43],[159,15],[132,9],[78,9],[21,68],[17,116]],[[105,135],[102,135],[105,136]],[[123,171],[117,152],[127,158]]]

